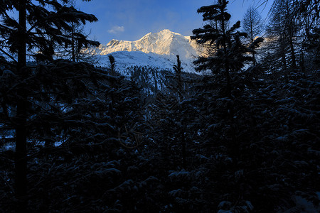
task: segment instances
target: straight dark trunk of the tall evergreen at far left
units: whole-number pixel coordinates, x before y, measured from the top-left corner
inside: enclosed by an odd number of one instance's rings
[[[26,0],[19,0],[18,75],[26,75]],[[16,212],[27,212],[26,93],[18,90],[16,113]]]

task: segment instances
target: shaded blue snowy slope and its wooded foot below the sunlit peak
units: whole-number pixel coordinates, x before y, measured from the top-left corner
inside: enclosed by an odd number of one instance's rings
[[[139,51],[127,52],[120,51],[110,53],[115,59],[115,70],[120,75],[124,75],[128,80],[133,80],[142,89],[147,97],[153,96],[160,90],[166,89],[171,85],[174,77],[174,62],[173,56],[158,55],[156,53],[143,53]],[[100,55],[100,65],[110,67],[109,55]],[[190,64],[181,62],[183,67],[183,78],[195,79],[198,74],[195,74]],[[117,74],[116,74],[117,75]]]

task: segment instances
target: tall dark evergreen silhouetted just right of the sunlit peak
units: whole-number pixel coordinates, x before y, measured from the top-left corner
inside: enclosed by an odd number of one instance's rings
[[[231,97],[232,74],[239,72],[245,61],[252,60],[245,53],[249,48],[242,45],[240,38],[247,33],[236,31],[240,28],[240,21],[228,28],[230,13],[227,12],[228,1],[218,0],[217,4],[202,6],[198,13],[203,13],[203,21],[209,23],[193,30],[191,39],[198,44],[205,45],[210,50],[208,57],[200,57],[194,63],[198,65],[197,71],[210,70],[215,77],[223,77],[226,83],[226,94]],[[216,24],[212,24],[216,23]],[[257,42],[251,46],[253,48]]]

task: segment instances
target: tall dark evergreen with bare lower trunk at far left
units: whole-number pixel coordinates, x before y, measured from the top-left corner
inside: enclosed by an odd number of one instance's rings
[[[72,38],[65,35],[70,31],[68,23],[97,21],[93,15],[66,6],[68,0],[18,0],[1,1],[0,25],[1,52],[13,60],[12,72],[16,75],[15,99],[4,105],[16,107],[11,119],[16,131],[16,199],[17,212],[27,209],[27,123],[31,119],[31,102],[34,91],[29,85],[33,70],[26,65],[28,56],[38,60],[52,60],[55,45],[70,45]],[[18,20],[9,16],[9,11],[18,11]],[[76,38],[82,45],[92,43],[84,36]],[[12,94],[11,94],[12,95]]]

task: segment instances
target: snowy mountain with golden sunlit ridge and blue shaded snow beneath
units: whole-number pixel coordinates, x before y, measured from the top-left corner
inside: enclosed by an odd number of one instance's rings
[[[139,40],[111,40],[107,45],[96,49],[100,66],[109,67],[108,55],[113,55],[116,69],[123,75],[127,67],[157,67],[159,70],[173,70],[176,55],[180,55],[184,72],[195,72],[193,60],[201,53],[196,41],[190,36],[183,36],[169,30],[159,33],[148,33]]]

